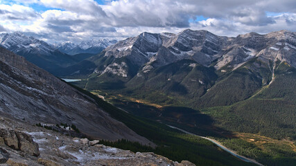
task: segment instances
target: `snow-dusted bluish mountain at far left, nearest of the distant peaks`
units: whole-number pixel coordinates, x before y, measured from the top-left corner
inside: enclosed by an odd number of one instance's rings
[[[50,72],[54,71],[55,68],[70,66],[78,62],[71,55],[55,50],[46,42],[34,37],[27,37],[19,32],[1,34],[0,46],[25,57],[29,62]]]

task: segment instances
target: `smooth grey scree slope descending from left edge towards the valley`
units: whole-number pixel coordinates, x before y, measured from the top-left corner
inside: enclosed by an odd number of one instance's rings
[[[0,113],[30,124],[74,124],[96,139],[150,144],[67,83],[0,47]]]

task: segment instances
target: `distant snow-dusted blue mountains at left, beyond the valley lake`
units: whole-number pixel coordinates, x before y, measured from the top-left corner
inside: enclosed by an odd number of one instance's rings
[[[29,62],[51,73],[100,53],[101,50],[114,42],[116,41],[99,39],[81,42],[79,45],[71,43],[51,45],[19,32],[0,35],[0,46],[26,57]],[[77,55],[69,55],[68,53],[77,53]]]

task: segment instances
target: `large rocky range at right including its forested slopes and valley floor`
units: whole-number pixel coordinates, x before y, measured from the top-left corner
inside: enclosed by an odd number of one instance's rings
[[[138,116],[202,130],[207,122],[195,113],[207,110],[218,127],[279,139],[295,133],[295,55],[296,33],[287,30],[220,37],[188,29],[141,33],[67,72],[84,73],[87,79],[73,84],[111,94],[117,106]],[[227,116],[219,116],[220,110]]]

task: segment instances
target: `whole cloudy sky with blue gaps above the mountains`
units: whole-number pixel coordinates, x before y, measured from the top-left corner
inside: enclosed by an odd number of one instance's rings
[[[0,33],[45,42],[124,39],[150,33],[209,30],[235,37],[296,31],[295,0],[0,0]]]

